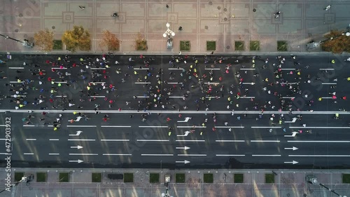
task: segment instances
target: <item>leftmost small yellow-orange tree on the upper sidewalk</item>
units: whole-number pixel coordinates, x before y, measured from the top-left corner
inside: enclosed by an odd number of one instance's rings
[[[48,29],[40,30],[34,34],[35,45],[40,47],[41,51],[49,52],[53,48],[53,32]]]

